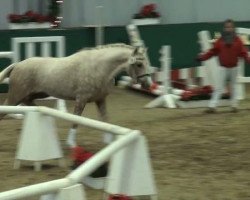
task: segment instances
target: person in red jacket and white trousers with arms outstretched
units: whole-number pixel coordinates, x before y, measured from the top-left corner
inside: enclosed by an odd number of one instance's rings
[[[215,41],[213,47],[207,52],[200,54],[198,61],[205,61],[212,56],[218,56],[219,67],[217,74],[217,85],[215,86],[211,100],[208,105],[206,113],[215,113],[219,99],[225,88],[227,79],[230,80],[231,93],[231,111],[238,111],[238,100],[236,94],[236,79],[238,72],[238,60],[244,58],[246,62],[250,63],[248,51],[245,48],[241,39],[235,33],[234,21],[228,19],[224,22],[224,28],[221,37]]]

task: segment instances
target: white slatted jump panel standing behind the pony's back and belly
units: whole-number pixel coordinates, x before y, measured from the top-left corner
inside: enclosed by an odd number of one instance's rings
[[[51,48],[52,42],[56,43],[56,57],[65,56],[65,39],[64,36],[46,36],[46,37],[19,37],[12,38],[11,46],[12,51],[0,52],[0,57],[5,56],[12,59],[12,63],[21,61],[21,44],[25,45],[25,58],[31,58],[36,56],[36,43],[41,44],[41,56],[49,57],[52,55]],[[8,79],[5,79],[4,83],[8,83]],[[55,99],[55,98],[47,98]],[[64,100],[57,99],[57,108],[64,112],[67,112],[66,103]],[[15,118],[22,118],[22,115],[12,115]]]

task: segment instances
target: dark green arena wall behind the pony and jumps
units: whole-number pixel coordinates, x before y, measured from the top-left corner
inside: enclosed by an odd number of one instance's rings
[[[250,28],[249,22],[237,22],[237,26]],[[200,52],[197,32],[208,30],[212,37],[214,32],[221,31],[222,23],[192,23],[192,24],[165,24],[140,26],[139,30],[142,39],[148,47],[151,64],[160,66],[159,50],[162,45],[172,47],[172,68],[186,68],[199,65],[195,61],[196,55]],[[124,26],[105,27],[105,43],[128,43],[128,35]],[[72,29],[51,29],[51,30],[2,30],[0,31],[0,51],[10,51],[11,38],[32,37],[32,36],[65,36],[66,55],[70,55],[81,48],[92,47],[95,44],[95,29],[93,27],[82,27]],[[10,64],[8,59],[0,59],[0,70]],[[250,75],[250,68],[246,67],[247,75]],[[6,86],[0,86],[0,92],[5,92]]]

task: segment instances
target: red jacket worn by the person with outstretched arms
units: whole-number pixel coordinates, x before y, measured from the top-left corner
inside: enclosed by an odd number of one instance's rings
[[[218,56],[220,65],[227,68],[236,67],[239,57],[244,58],[246,62],[250,63],[248,51],[238,36],[235,37],[231,45],[226,45],[223,39],[219,38],[214,43],[213,48],[208,52],[201,54],[199,59],[205,61],[212,56]]]

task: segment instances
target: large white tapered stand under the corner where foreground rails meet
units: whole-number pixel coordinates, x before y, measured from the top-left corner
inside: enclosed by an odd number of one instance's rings
[[[155,197],[157,195],[144,136],[140,136],[138,140],[126,146],[111,158],[105,192],[108,194],[125,194],[131,197]]]

